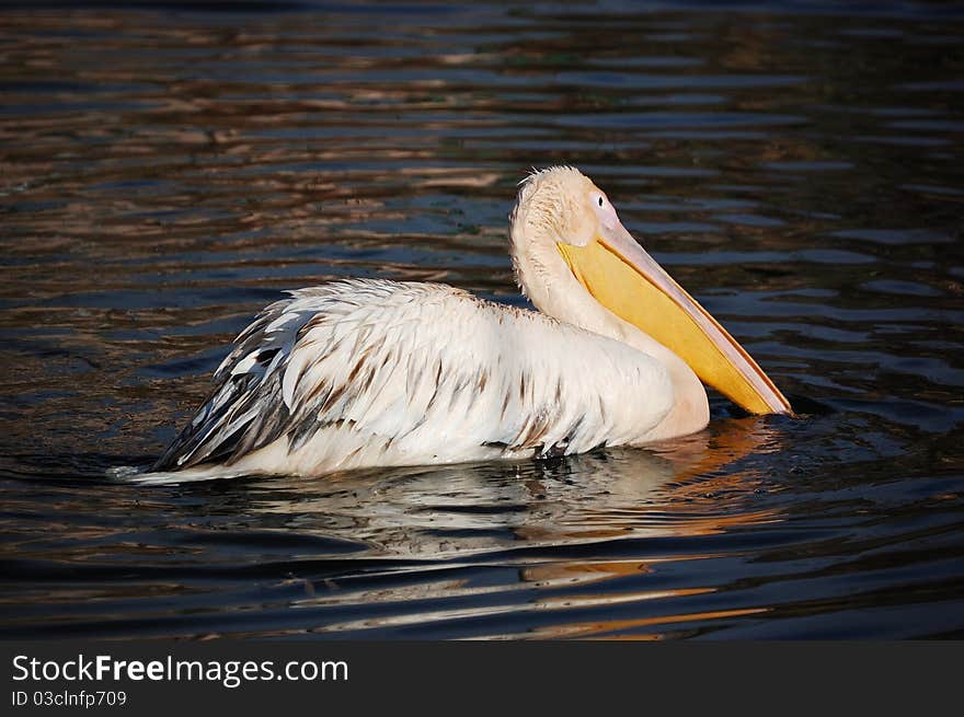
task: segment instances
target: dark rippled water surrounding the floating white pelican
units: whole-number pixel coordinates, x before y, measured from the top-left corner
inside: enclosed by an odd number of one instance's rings
[[[964,636],[962,13],[223,5],[0,11],[0,637]],[[106,477],[284,289],[521,304],[506,213],[561,162],[801,419]]]

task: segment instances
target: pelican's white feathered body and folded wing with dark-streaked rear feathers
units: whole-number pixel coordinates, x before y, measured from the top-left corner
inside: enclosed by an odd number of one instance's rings
[[[673,398],[662,367],[619,342],[451,287],[385,280],[267,307],[215,382],[154,471],[582,452],[642,435]],[[242,462],[259,451],[262,462]]]

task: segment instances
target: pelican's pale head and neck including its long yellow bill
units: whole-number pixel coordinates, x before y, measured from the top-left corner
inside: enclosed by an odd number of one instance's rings
[[[622,339],[624,329],[602,332],[600,324],[629,324],[744,409],[792,413],[750,355],[636,243],[606,193],[577,170],[529,175],[510,234],[516,277],[543,313]]]

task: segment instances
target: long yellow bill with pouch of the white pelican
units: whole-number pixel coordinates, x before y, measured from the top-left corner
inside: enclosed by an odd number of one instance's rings
[[[616,220],[585,246],[558,243],[573,275],[604,307],[686,361],[754,414],[792,414],[749,354]]]

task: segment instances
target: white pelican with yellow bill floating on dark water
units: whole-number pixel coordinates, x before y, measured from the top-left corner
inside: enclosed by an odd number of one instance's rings
[[[509,239],[538,311],[439,284],[291,291],[241,332],[152,471],[322,475],[639,447],[707,426],[703,381],[750,413],[792,413],[577,170],[520,183]]]

